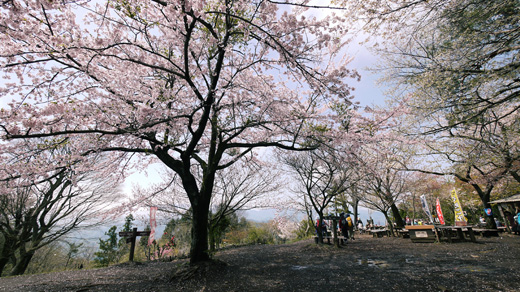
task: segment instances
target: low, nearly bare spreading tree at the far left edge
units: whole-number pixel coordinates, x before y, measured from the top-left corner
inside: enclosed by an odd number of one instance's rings
[[[54,156],[47,158],[52,164]],[[58,167],[46,177],[42,175],[35,176],[38,181],[17,178],[2,183],[7,186],[0,196],[0,275],[8,262],[12,264],[10,275],[23,274],[42,247],[71,231],[99,224],[118,195],[117,180],[100,179],[92,172]]]

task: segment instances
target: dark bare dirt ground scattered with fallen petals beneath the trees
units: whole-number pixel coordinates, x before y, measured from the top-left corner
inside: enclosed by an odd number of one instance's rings
[[[520,291],[520,236],[412,243],[357,236],[232,248],[211,264],[122,264],[0,279],[0,291]]]

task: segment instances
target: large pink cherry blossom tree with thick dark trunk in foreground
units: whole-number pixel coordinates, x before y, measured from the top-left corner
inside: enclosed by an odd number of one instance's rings
[[[2,137],[74,136],[77,157],[162,162],[193,211],[191,262],[207,260],[216,173],[258,147],[315,148],[328,105],[350,103],[358,78],[344,16],[280,5],[4,1]]]

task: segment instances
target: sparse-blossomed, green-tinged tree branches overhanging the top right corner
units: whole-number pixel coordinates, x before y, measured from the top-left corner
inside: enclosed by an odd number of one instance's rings
[[[423,133],[500,121],[518,112],[517,1],[334,2],[377,37],[388,83],[398,89],[395,97],[405,97],[422,117]]]

